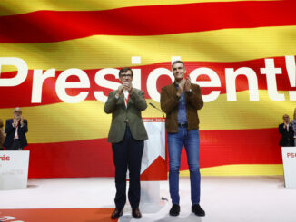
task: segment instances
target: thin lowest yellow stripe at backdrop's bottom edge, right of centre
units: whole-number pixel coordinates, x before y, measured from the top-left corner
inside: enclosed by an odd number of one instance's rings
[[[189,176],[189,170],[180,172],[180,176]],[[234,164],[212,168],[202,168],[202,176],[268,176],[283,175],[282,164]]]

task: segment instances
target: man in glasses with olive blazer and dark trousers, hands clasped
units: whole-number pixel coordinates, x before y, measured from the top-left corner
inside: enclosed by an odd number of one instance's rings
[[[141,218],[140,172],[143,155],[143,141],[148,139],[143,125],[141,111],[147,108],[144,92],[133,88],[133,71],[123,68],[119,71],[122,84],[117,90],[110,92],[104,104],[104,111],[112,113],[112,123],[108,134],[108,142],[112,143],[113,162],[115,165],[115,206],[111,217],[123,215],[126,202],[126,171],[130,171],[130,187],[128,198],[132,206],[133,218]]]

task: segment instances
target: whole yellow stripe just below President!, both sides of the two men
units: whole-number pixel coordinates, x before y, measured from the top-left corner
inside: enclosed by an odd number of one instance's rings
[[[283,92],[279,92],[283,93]],[[285,92],[286,98],[287,93]],[[216,101],[205,103],[201,111],[200,130],[236,130],[277,128],[282,114],[292,116],[295,101],[271,101],[266,91],[260,91],[261,101],[249,101],[249,92],[238,92],[238,101],[226,101],[222,94]],[[153,102],[157,107],[159,103]],[[30,143],[47,143],[106,138],[111,114],[103,111],[100,101],[56,103],[25,107],[23,115],[29,122]],[[9,119],[13,109],[0,109],[0,117]],[[148,106],[143,117],[161,117],[160,111]]]

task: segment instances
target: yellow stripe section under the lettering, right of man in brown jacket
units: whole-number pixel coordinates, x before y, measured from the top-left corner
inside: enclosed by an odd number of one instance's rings
[[[260,101],[250,101],[249,92],[237,92],[237,101],[227,101],[222,94],[216,101],[205,103],[199,117],[201,130],[248,130],[277,128],[282,115],[292,113],[295,101],[290,101],[288,92],[286,101],[271,101],[267,91],[259,91]]]

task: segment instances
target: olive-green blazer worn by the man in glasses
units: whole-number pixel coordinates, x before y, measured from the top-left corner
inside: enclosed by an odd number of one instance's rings
[[[127,108],[124,103],[124,95],[116,99],[116,91],[110,92],[108,100],[104,104],[104,112],[112,113],[112,123],[108,134],[108,142],[120,142],[123,140],[126,130],[126,119],[134,140],[147,140],[148,135],[143,125],[141,111],[147,108],[144,92],[133,88],[130,94]]]

